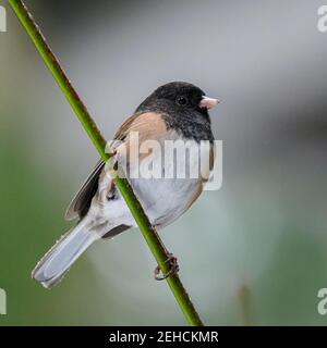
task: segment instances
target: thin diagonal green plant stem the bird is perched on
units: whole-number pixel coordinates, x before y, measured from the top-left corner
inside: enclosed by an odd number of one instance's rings
[[[60,66],[59,61],[52,53],[50,47],[46,42],[44,35],[41,34],[39,27],[35,23],[32,14],[28,12],[26,5],[21,0],[8,0],[13,11],[17,15],[25,30],[29,35],[33,44],[37,48],[39,54],[41,55],[44,62],[52,73],[56,82],[60,86],[62,92],[66,97],[71,107],[75,111],[78,120],[81,121],[83,127],[85,128],[87,135],[92,139],[94,146],[98,150],[99,154],[106,162],[112,162],[110,154],[106,153],[106,139],[102,137],[97,125],[89,115],[84,103],[80,99],[78,95],[74,90],[72,84]],[[112,164],[112,163],[111,163]],[[131,185],[126,178],[114,176],[114,184],[119,188],[122,197],[124,198],[128,207],[130,208],[138,227],[142,232],[149,249],[152,250],[158,265],[160,266],[164,274],[169,272],[169,264],[166,262],[168,259],[168,252],[164,246],[161,239],[159,238],[157,232],[152,226],[148,217],[146,216],[141,203],[138,202],[135,194],[132,190]],[[174,295],[185,319],[191,325],[202,326],[203,322],[196,312],[182,282],[178,274],[171,275],[167,278],[167,283],[170,286],[172,294]]]

